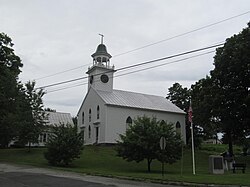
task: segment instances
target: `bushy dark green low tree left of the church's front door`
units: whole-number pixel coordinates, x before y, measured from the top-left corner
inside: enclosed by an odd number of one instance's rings
[[[70,124],[52,128],[44,157],[54,166],[67,166],[79,158],[83,149],[83,134]]]

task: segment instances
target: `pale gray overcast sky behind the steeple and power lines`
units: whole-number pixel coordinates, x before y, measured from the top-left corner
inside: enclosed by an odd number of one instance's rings
[[[224,42],[246,27],[249,11],[249,0],[0,0],[0,32],[12,38],[22,59],[20,80],[36,80],[39,87],[86,76],[99,33],[113,56],[111,64],[120,68]],[[158,41],[163,42],[129,52]],[[166,97],[175,82],[190,87],[208,75],[214,55],[116,77],[114,88]],[[86,81],[46,88],[45,107],[76,116],[87,85],[73,86]],[[72,88],[56,91],[65,87]]]

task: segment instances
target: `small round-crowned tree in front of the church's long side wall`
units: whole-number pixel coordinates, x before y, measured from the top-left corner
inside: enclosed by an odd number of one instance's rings
[[[130,125],[121,140],[117,142],[117,156],[127,161],[141,162],[147,160],[148,172],[154,159],[162,160],[159,141],[160,137],[167,139],[164,161],[172,164],[181,157],[182,141],[173,130],[173,124],[157,121],[147,116],[137,117]]]

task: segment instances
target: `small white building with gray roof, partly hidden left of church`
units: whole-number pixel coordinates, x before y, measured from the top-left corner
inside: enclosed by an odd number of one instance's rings
[[[55,125],[61,124],[71,124],[73,125],[73,120],[70,113],[62,112],[48,112],[46,111],[46,130],[39,135],[38,143],[33,144],[32,146],[45,146],[45,143],[48,141],[49,134],[51,134],[50,128]]]

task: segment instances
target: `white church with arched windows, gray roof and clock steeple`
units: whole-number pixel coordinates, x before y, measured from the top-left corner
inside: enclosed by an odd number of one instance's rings
[[[186,142],[185,112],[164,97],[113,89],[114,66],[106,46],[100,44],[89,67],[88,92],[78,111],[78,126],[85,144],[111,144],[119,140],[138,116],[172,122]]]

